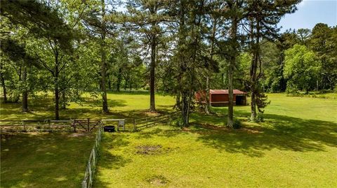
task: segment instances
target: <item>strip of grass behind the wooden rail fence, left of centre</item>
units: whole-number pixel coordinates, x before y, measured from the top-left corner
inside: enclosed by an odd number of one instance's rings
[[[54,102],[52,95],[37,95],[29,99],[29,112],[22,113],[20,103],[2,103],[0,101],[1,120],[31,120],[51,119],[54,120]],[[110,113],[102,113],[100,96],[93,99],[89,94],[84,94],[81,103],[70,103],[67,109],[60,109],[60,120],[81,118],[121,118],[141,117],[150,108],[150,95],[148,92],[108,92],[107,103]],[[172,110],[175,99],[172,96],[157,95],[157,110]],[[61,107],[60,107],[61,108]]]

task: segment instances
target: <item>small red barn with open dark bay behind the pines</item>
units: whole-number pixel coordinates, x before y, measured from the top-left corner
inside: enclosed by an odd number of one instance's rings
[[[233,103],[234,105],[246,105],[246,92],[239,89],[233,89]],[[206,103],[206,91],[197,92],[195,99],[199,103]],[[227,106],[229,102],[228,89],[210,89],[209,102],[211,106]]]

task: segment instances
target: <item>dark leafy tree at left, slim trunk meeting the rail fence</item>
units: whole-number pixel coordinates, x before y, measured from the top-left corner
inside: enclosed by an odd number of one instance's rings
[[[72,52],[72,29],[65,24],[58,12],[58,2],[4,1],[1,3],[1,15],[13,24],[25,27],[29,34],[38,38],[39,50],[35,51],[39,64],[51,73],[54,81],[55,119],[59,119],[60,87],[59,75],[65,68],[62,58]],[[41,44],[41,45],[40,45]],[[41,48],[42,47],[42,48]],[[48,50],[46,50],[48,49]],[[44,59],[39,52],[51,52],[51,59]],[[43,56],[45,56],[44,54]]]

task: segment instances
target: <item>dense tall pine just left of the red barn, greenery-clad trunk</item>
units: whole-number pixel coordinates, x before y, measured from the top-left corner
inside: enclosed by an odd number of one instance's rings
[[[201,89],[199,73],[206,68],[211,69],[213,61],[209,58],[207,46],[204,45],[205,15],[208,7],[206,1],[178,1],[176,7],[176,22],[178,33],[176,50],[173,53],[174,73],[176,78],[175,91],[178,94],[181,111],[181,126],[189,125],[190,112],[193,108],[194,92]],[[177,100],[178,101],[178,100]]]

